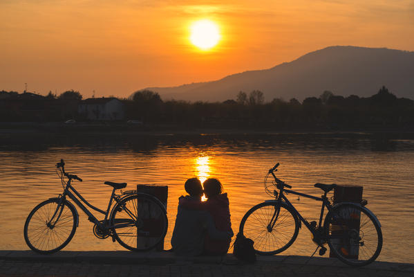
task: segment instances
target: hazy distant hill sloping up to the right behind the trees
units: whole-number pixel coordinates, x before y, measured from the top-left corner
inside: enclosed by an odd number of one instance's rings
[[[245,71],[179,87],[149,87],[162,99],[223,101],[238,91],[262,91],[265,100],[303,100],[325,90],[335,95],[372,96],[385,85],[398,97],[414,98],[414,52],[330,46],[271,69]]]

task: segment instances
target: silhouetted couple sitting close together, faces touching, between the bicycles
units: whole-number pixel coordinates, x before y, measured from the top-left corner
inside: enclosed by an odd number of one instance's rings
[[[232,240],[229,199],[218,179],[188,179],[178,202],[171,245],[178,256],[224,255]],[[201,201],[205,194],[206,202]]]

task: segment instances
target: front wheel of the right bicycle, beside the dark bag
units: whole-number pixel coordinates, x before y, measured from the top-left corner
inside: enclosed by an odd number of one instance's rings
[[[241,220],[239,233],[254,241],[256,253],[274,255],[288,249],[296,240],[299,220],[290,206],[264,202],[247,211]]]

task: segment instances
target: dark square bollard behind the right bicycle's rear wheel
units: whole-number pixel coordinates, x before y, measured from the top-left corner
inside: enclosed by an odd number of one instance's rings
[[[362,186],[344,186],[344,185],[337,185],[334,189],[334,204],[341,203],[341,202],[352,202],[360,204],[362,201]],[[352,216],[352,218],[347,218],[348,223],[351,224],[352,228],[359,230],[360,224],[360,215]],[[333,224],[332,224],[333,225]],[[333,226],[332,226],[333,228]],[[338,229],[341,229],[340,227]],[[341,231],[336,231],[341,232]],[[337,235],[340,235],[337,233]],[[349,258],[358,259],[359,255],[359,247],[346,247],[344,246],[345,251],[348,252]],[[330,251],[329,256],[335,258],[335,254]]]

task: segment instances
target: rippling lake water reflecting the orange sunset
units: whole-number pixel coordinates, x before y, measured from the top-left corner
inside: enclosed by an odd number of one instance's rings
[[[0,138],[0,249],[28,249],[23,224],[39,202],[62,192],[55,163],[84,179],[75,187],[91,204],[106,208],[111,187],[104,181],[169,186],[169,229],[178,197],[189,177],[217,177],[229,195],[237,233],[245,212],[265,199],[263,178],[280,162],[277,176],[295,190],[320,196],[313,184],[364,186],[368,208],[382,223],[384,247],[378,260],[414,262],[414,139],[369,134],[195,134],[195,135],[39,135]],[[289,197],[289,196],[288,196]],[[317,220],[319,203],[290,196],[308,219]],[[78,208],[79,228],[64,250],[125,250],[111,239],[99,240]],[[95,214],[100,218],[99,214]],[[316,245],[307,229],[282,255],[312,255]]]

